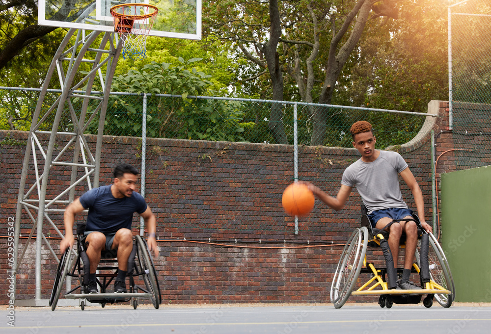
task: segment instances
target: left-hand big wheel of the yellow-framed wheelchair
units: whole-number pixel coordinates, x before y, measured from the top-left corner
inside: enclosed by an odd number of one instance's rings
[[[358,279],[368,245],[366,227],[356,229],[344,246],[332,280],[330,299],[335,308],[348,300]]]

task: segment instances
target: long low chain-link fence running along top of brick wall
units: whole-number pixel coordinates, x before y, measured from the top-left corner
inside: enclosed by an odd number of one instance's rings
[[[32,111],[38,99],[38,89],[0,87],[0,128],[29,130]],[[82,92],[83,93],[83,92]],[[46,109],[59,91],[52,90],[45,98]],[[97,93],[94,93],[97,94]],[[71,104],[80,109],[77,99]],[[82,103],[82,99],[79,101]],[[92,110],[98,104],[94,104]],[[294,120],[297,105],[297,120]],[[68,109],[68,106],[66,106]],[[377,148],[402,145],[413,138],[425,121],[426,114],[395,110],[358,108],[313,103],[248,100],[217,97],[187,97],[142,95],[112,92],[106,115],[105,135],[141,137],[143,110],[146,110],[146,136],[192,140],[231,141],[249,143],[294,143],[297,123],[298,144],[327,147],[352,147],[349,132],[358,120],[375,125]],[[272,118],[277,110],[277,120]],[[90,114],[91,107],[88,107]],[[46,112],[41,112],[43,115]],[[70,113],[65,113],[59,131],[72,131]],[[54,115],[51,115],[54,117]],[[273,117],[272,117],[273,116]],[[85,130],[97,134],[98,117]],[[49,117],[40,130],[51,130]]]

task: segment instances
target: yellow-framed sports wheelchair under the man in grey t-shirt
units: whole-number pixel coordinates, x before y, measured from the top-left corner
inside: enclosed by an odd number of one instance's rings
[[[443,254],[438,241],[432,233],[427,233],[420,224],[417,215],[414,219],[401,219],[399,221],[414,221],[418,227],[418,246],[415,252],[415,262],[411,274],[417,273],[420,277],[421,290],[395,289],[398,274],[403,268],[394,268],[392,254],[388,245],[388,232],[372,228],[368,218],[367,209],[361,207],[361,227],[355,229],[348,239],[339,259],[330,290],[330,300],[335,308],[341,308],[350,295],[380,295],[380,307],[391,308],[395,304],[418,304],[422,295],[427,295],[423,305],[432,307],[433,299],[444,308],[449,308],[455,299],[455,285],[450,272],[450,266]],[[406,236],[403,233],[400,244],[405,247]],[[382,248],[385,258],[385,268],[376,268],[373,262],[367,260],[367,248]],[[371,276],[365,283],[358,282],[358,276],[366,274]],[[385,274],[387,279],[385,279]],[[355,291],[355,284],[358,282]],[[363,284],[362,284],[363,283]],[[377,288],[377,289],[376,289]],[[408,293],[408,291],[411,291]]]

